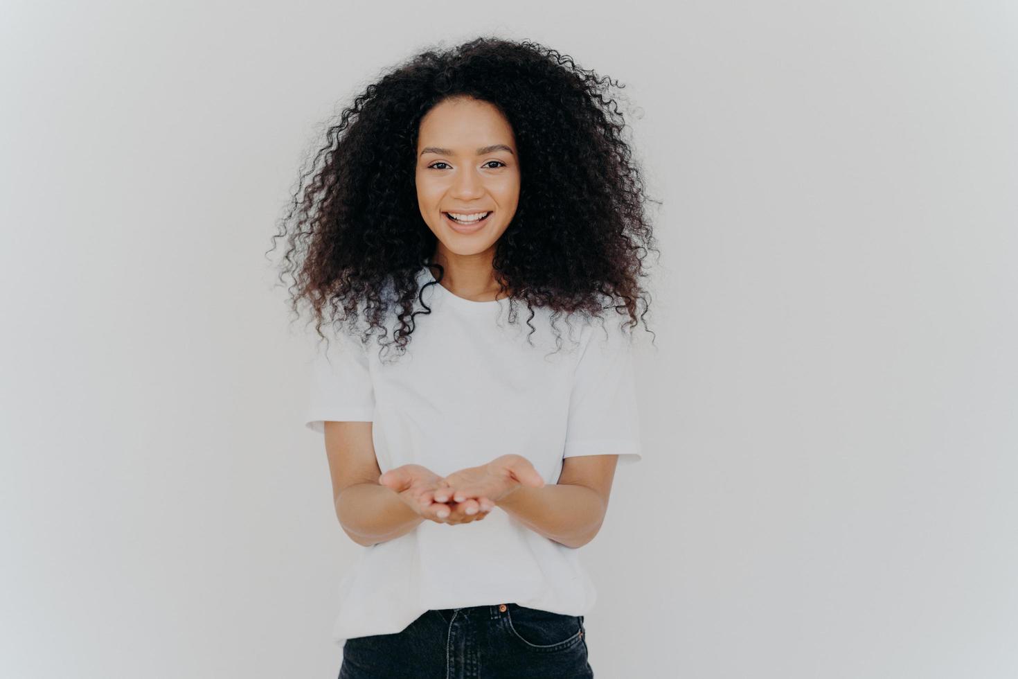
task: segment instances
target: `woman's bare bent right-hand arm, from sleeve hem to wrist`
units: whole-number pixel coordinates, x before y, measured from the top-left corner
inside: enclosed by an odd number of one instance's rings
[[[601,530],[618,459],[618,455],[567,457],[558,484],[518,486],[495,504],[545,537],[582,547]]]

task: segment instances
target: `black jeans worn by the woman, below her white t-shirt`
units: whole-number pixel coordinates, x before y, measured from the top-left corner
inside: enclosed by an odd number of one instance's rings
[[[583,616],[516,604],[432,610],[347,639],[339,679],[590,679]]]

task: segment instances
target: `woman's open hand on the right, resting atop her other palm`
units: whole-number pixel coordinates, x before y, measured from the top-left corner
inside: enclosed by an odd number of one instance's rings
[[[515,454],[497,457],[478,467],[460,469],[444,480],[445,487],[440,487],[431,496],[435,502],[452,500],[464,505],[473,502],[478,505],[480,516],[520,486],[541,488],[545,485],[530,461]]]

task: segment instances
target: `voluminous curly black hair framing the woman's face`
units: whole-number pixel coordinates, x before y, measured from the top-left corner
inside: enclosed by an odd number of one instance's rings
[[[658,250],[613,87],[625,86],[568,55],[491,37],[428,49],[384,70],[305,161],[273,236],[287,237],[281,277],[291,276],[293,310],[299,316],[298,304],[308,301],[324,337],[327,314],[351,328],[366,321],[366,334],[385,336],[395,309],[393,341],[405,350],[414,316],[431,313],[416,275],[437,243],[416,202],[418,126],[440,102],[469,97],[506,117],[523,167],[518,208],[492,263],[499,295],[512,290],[510,321],[523,301],[530,334],[535,306],[550,307],[553,324],[562,313],[600,317],[614,307],[628,315],[624,326],[635,326],[637,301],[640,317],[648,306],[638,280],[646,276],[643,259]]]

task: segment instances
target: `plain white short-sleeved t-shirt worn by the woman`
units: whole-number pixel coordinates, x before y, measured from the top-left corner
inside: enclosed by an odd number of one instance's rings
[[[418,286],[435,280],[422,267]],[[627,316],[608,308],[604,325],[582,314],[556,320],[517,302],[471,301],[441,284],[423,288],[432,313],[413,317],[406,353],[380,360],[366,346],[332,333],[312,362],[306,427],[325,420],[372,421],[379,468],[416,463],[445,476],[507,453],[526,457],[556,484],[565,457],[640,459],[631,334]],[[418,304],[419,308],[419,304]],[[387,342],[396,325],[390,322]],[[570,329],[571,327],[571,329]],[[607,334],[607,337],[606,337]],[[395,360],[395,363],[391,362]],[[426,520],[393,540],[363,548],[339,584],[333,639],[402,631],[429,609],[515,602],[584,615],[597,596],[577,549],[534,532],[496,507],[480,521]]]

